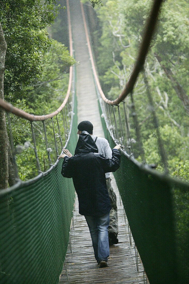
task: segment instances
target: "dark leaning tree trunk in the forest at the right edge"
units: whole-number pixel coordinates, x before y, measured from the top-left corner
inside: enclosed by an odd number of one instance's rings
[[[161,57],[157,54],[155,54],[155,57],[157,58],[161,68],[163,68],[163,71],[165,72],[167,78],[169,78],[169,80],[171,81],[173,88],[177,94],[177,96],[179,97],[179,99],[182,101],[183,106],[187,112],[187,114],[189,115],[189,98],[186,95],[184,89],[182,88],[182,86],[175,80],[174,75],[171,71],[171,69],[166,68],[165,66],[163,66],[161,64]]]

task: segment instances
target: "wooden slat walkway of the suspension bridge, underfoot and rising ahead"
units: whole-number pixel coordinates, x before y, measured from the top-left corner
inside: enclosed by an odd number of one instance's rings
[[[76,61],[80,62],[80,64],[76,66],[78,122],[90,120],[94,125],[94,135],[104,137],[79,0],[69,0],[69,5],[75,58]],[[107,268],[99,268],[97,265],[94,258],[89,229],[84,216],[81,216],[78,213],[78,200],[76,197],[76,206],[73,217],[74,229],[72,225],[70,231],[72,253],[70,253],[68,245],[66,255],[68,280],[64,266],[59,284],[143,283],[142,264],[139,262],[139,272],[137,272],[134,242],[132,240],[132,246],[130,246],[128,222],[127,220],[126,223],[124,221],[123,205],[119,200],[119,191],[113,174],[111,174],[111,178],[112,186],[118,199],[119,244],[110,247],[109,266]]]

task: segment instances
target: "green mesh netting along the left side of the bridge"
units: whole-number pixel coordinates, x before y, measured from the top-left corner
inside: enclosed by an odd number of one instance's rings
[[[77,105],[67,149],[77,142]],[[62,160],[45,176],[0,192],[0,283],[59,283],[75,190]]]

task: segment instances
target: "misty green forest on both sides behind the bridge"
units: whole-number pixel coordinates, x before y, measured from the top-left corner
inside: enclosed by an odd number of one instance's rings
[[[24,6],[20,2],[30,4]],[[44,7],[42,4],[39,6],[40,0],[13,1],[1,9],[0,15],[7,42],[4,99],[22,110],[40,115],[53,112],[62,103],[67,92],[69,66],[79,64],[68,52],[67,12],[64,7],[66,1],[47,2],[48,5]],[[121,93],[132,71],[153,1],[105,0],[103,7],[100,1],[82,2],[85,4],[101,87],[105,96],[113,100]],[[163,3],[145,64],[170,175],[184,181],[189,180],[187,16],[187,1],[167,0]],[[155,163],[157,170],[162,172],[143,74],[139,76],[134,88],[134,99],[146,162]],[[136,141],[130,103],[130,97],[126,98],[130,133],[133,141]],[[120,108],[124,121],[122,105]],[[67,119],[69,123],[69,114]],[[30,123],[14,115],[11,115],[11,122],[19,177],[21,180],[33,178],[37,175],[37,169]],[[50,123],[47,121],[47,136],[50,137],[48,143],[52,149],[51,160],[55,161]],[[63,128],[61,122],[60,124]],[[42,126],[42,123],[34,122],[41,169],[47,170],[48,159]],[[7,131],[9,133],[8,127]],[[134,143],[134,154],[141,162],[137,143]]]

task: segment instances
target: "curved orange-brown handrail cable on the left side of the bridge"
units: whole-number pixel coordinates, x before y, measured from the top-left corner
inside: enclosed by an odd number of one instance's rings
[[[67,14],[68,14],[68,30],[69,30],[69,45],[70,45],[70,56],[73,55],[73,48],[72,48],[72,32],[71,32],[71,22],[70,22],[70,10],[69,10],[69,5],[68,5],[68,0],[67,0]],[[66,97],[63,101],[63,103],[61,104],[61,106],[59,106],[59,108],[57,110],[55,110],[54,112],[50,113],[50,114],[45,114],[45,115],[34,115],[34,114],[30,114],[28,112],[25,112],[19,108],[14,107],[13,105],[11,105],[10,103],[7,103],[6,101],[0,99],[0,107],[3,108],[5,111],[7,112],[11,112],[13,114],[15,114],[16,116],[25,118],[29,121],[44,121],[47,120],[49,118],[53,118],[55,115],[59,114],[59,112],[65,107],[68,98],[70,96],[70,91],[71,91],[71,85],[72,85],[72,72],[73,72],[73,66],[70,66],[69,69],[69,81],[68,81],[68,90],[66,93]]]

